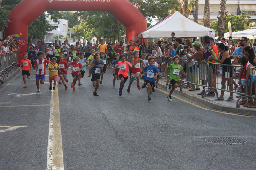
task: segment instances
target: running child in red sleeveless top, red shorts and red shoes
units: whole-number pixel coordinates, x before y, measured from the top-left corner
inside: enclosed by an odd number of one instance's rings
[[[133,56],[134,56],[134,58],[132,59],[132,79],[131,79],[128,89],[127,89],[128,93],[130,93],[130,88],[131,88],[132,82],[134,81],[135,76],[137,78],[137,87],[140,90],[140,85],[139,85],[140,71],[141,71],[140,70],[140,62],[142,62],[143,65],[145,65],[144,61],[141,58],[139,58],[139,51],[134,50]]]

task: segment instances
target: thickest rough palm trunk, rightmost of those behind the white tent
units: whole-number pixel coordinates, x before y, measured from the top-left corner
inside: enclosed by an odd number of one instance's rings
[[[222,38],[225,33],[224,25],[226,20],[226,0],[220,0],[220,11],[218,13],[218,36]]]

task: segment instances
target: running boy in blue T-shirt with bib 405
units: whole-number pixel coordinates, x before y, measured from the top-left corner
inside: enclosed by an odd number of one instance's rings
[[[153,94],[152,88],[154,87],[154,83],[157,79],[157,76],[160,74],[160,70],[154,65],[155,64],[155,58],[150,57],[148,59],[149,65],[146,65],[141,73],[145,72],[141,78],[144,80],[144,84],[141,86],[141,88],[146,87],[147,93],[148,93],[148,100],[151,100],[150,94]]]

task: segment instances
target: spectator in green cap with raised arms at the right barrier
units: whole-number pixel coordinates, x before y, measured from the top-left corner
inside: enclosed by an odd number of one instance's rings
[[[188,52],[192,52],[191,49],[184,49],[184,53],[186,55],[186,57],[188,58],[188,60],[191,59],[196,59],[198,62],[202,62],[199,63],[198,67],[199,67],[199,80],[201,80],[202,85],[206,85],[206,81],[207,81],[207,69],[205,67],[205,57],[204,57],[204,48],[201,47],[200,42],[199,41],[195,41],[192,44],[196,50],[196,52],[189,56]],[[203,89],[205,88],[205,86],[203,86]],[[205,92],[205,90],[202,90],[200,93],[198,93],[197,95],[202,95]]]

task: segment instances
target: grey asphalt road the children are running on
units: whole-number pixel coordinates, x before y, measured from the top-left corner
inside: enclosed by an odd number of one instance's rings
[[[146,89],[138,90],[135,82],[128,94],[127,81],[119,96],[120,81],[113,89],[112,71],[106,72],[99,96],[93,96],[88,70],[76,91],[69,72],[68,90],[59,84],[51,92],[46,76],[36,95],[35,70],[28,88],[22,88],[20,73],[0,89],[0,169],[256,169],[255,117],[212,110],[175,94],[169,102],[161,88],[147,101]]]

